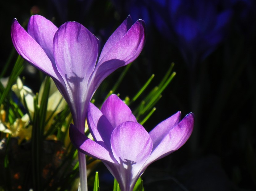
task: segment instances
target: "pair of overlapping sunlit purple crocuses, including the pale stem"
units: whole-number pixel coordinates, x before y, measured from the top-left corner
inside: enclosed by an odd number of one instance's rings
[[[109,74],[138,57],[145,36],[144,21],[132,24],[128,16],[99,54],[99,40],[78,22],[66,22],[57,28],[46,18],[34,15],[26,31],[16,19],[13,21],[14,47],[53,79],[70,107],[74,125],[70,125],[69,133],[80,151],[81,190],[87,190],[84,154],[103,161],[121,189],[131,191],[148,165],[180,148],[192,133],[192,113],[181,120],[177,112],[148,133],[117,95],[109,96],[101,110],[89,103]],[[84,134],[86,116],[95,141]]]

